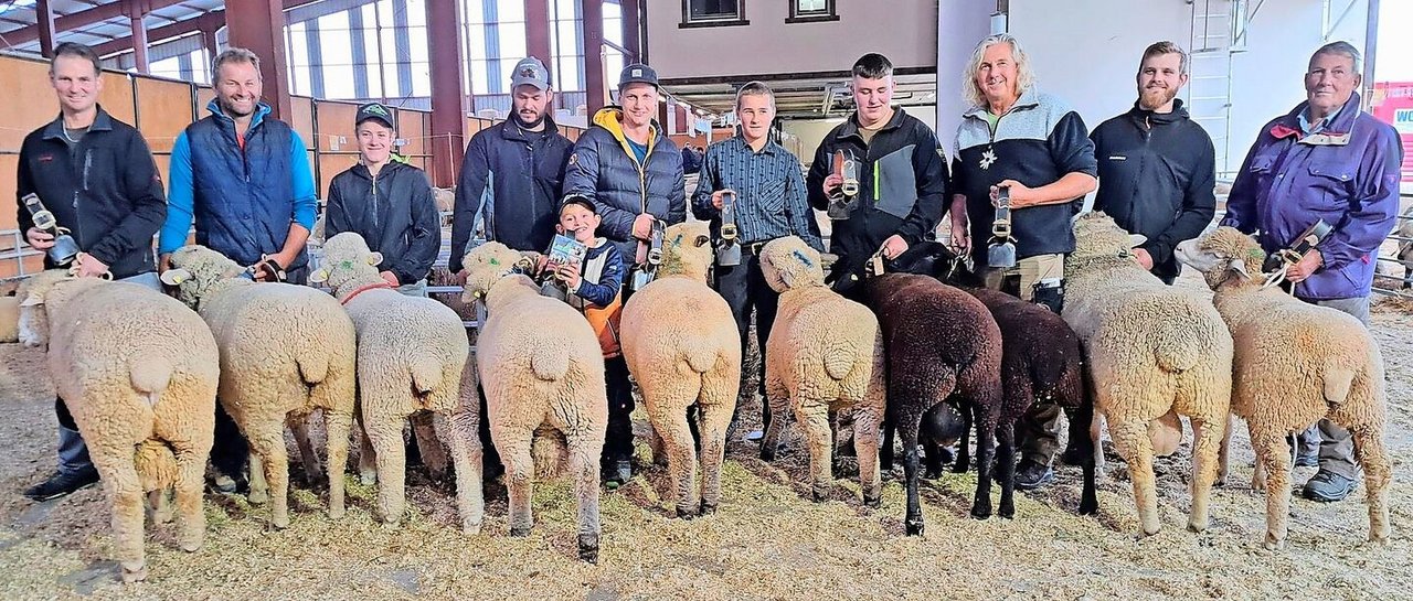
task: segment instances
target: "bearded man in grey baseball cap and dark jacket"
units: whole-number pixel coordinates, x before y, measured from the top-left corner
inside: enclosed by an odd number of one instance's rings
[[[451,271],[461,272],[485,207],[486,237],[520,251],[544,253],[560,219],[560,185],[574,142],[554,124],[554,90],[540,59],[510,72],[510,119],[480,130],[466,145],[451,227]]]

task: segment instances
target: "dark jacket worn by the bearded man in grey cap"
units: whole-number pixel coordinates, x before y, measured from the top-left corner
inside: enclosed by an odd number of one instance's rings
[[[521,130],[512,117],[480,130],[466,145],[451,226],[451,271],[461,271],[476,213],[492,206],[487,233],[514,250],[544,251],[560,220],[560,188],[574,142],[545,117],[544,131]],[[486,183],[495,181],[486,193]]]

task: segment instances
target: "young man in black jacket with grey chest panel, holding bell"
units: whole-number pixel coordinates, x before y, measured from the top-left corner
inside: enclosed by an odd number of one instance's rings
[[[937,227],[947,196],[947,158],[927,124],[892,104],[893,63],[866,54],[853,63],[852,116],[824,137],[805,178],[810,205],[829,209],[829,251],[839,257],[831,281],[882,250],[893,258]],[[844,198],[835,154],[858,164],[858,192]],[[852,182],[851,182],[852,185]]]

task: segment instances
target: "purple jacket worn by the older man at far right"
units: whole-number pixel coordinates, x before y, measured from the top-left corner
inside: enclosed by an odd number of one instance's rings
[[[1334,226],[1317,247],[1324,267],[1296,285],[1296,296],[1368,296],[1379,244],[1399,210],[1403,147],[1393,126],[1359,110],[1359,95],[1314,134],[1300,128],[1306,104],[1262,130],[1232,183],[1222,226],[1259,231],[1273,253],[1323,219]]]

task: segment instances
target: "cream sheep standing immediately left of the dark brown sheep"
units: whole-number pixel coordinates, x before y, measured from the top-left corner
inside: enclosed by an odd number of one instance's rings
[[[882,491],[879,429],[886,391],[883,333],[877,317],[866,306],[824,285],[820,253],[797,236],[767,243],[760,250],[760,271],[766,284],[780,293],[766,346],[766,395],[771,416],[760,457],[774,459],[786,408],[793,408],[810,444],[812,497],[824,501],[834,482],[829,413],[852,409],[863,502],[877,506]]]

